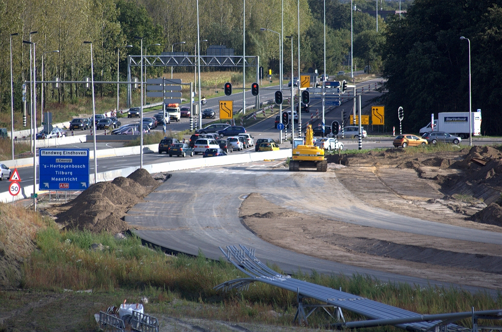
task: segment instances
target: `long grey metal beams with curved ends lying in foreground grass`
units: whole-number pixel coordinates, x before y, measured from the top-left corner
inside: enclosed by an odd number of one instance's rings
[[[472,316],[473,321],[477,319],[502,319],[501,310],[473,311],[445,313],[438,315],[420,315],[418,313],[404,310],[381,302],[373,301],[364,297],[350,293],[338,291],[329,287],[313,284],[310,282],[297,280],[290,276],[281,275],[260,262],[255,256],[255,249],[249,249],[240,245],[240,249],[235,246],[227,246],[226,251],[220,247],[221,252],[238,270],[248,275],[248,278],[239,278],[223,282],[214,287],[216,290],[227,291],[230,289],[247,289],[249,283],[261,281],[286,290],[297,293],[300,298],[312,298],[320,302],[342,308],[369,318],[369,320],[344,322],[333,324],[334,327],[368,327],[394,325],[396,327],[412,331],[439,330],[444,327],[445,331],[465,332],[469,329],[451,324],[452,322]],[[303,305],[304,306],[304,305]],[[299,300],[299,313],[306,317]],[[477,324],[476,324],[477,325]],[[477,328],[477,326],[476,326]]]

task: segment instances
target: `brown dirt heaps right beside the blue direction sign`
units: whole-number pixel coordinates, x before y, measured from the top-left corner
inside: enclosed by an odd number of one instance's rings
[[[65,206],[70,208],[59,213],[56,221],[67,230],[89,230],[93,233],[125,231],[129,229],[123,220],[127,211],[159,184],[143,169],[127,178],[94,184],[67,203]]]

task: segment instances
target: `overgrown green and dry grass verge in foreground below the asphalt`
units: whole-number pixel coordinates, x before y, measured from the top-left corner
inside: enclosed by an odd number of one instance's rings
[[[38,294],[43,301],[49,297],[52,311],[61,310],[64,319],[52,319],[52,330],[68,330],[69,323],[78,330],[95,330],[96,324],[89,318],[92,313],[110,305],[118,306],[124,298],[129,303],[137,302],[142,296],[149,298],[146,310],[154,316],[291,326],[296,312],[293,292],[263,283],[251,284],[249,290],[243,292],[216,293],[215,285],[244,275],[225,261],[207,260],[202,253],[197,257],[168,256],[159,249],[143,246],[134,235],[118,240],[106,233],[61,232],[49,226],[38,232],[35,243],[38,250],[23,264],[22,287],[27,299],[33,301],[33,294]],[[92,251],[92,243],[101,243],[105,249]],[[341,287],[343,291],[419,313],[468,311],[472,306],[476,310],[502,307],[500,294],[491,297],[483,292],[472,294],[453,288],[417,287],[363,275],[298,272],[293,277],[335,289]],[[78,294],[65,293],[63,289],[93,291]],[[20,293],[23,292],[0,292],[4,312],[20,312],[20,306],[30,305]],[[70,310],[69,302],[75,303],[76,308]],[[9,328],[23,329],[34,322],[42,323],[45,316],[39,309],[42,310],[32,306],[24,319],[14,315],[8,320]],[[347,320],[362,318],[346,311],[344,315]],[[322,328],[327,322],[329,319],[322,310],[309,317],[310,327]],[[462,324],[470,326],[468,319]],[[7,329],[5,323],[0,325],[2,329]],[[366,330],[397,329],[385,326]]]

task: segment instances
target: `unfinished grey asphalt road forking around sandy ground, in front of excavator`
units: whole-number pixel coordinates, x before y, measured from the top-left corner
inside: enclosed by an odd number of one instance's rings
[[[350,194],[332,173],[290,173],[272,168],[277,161],[173,172],[172,177],[131,209],[126,221],[137,227],[142,239],[175,252],[197,255],[202,250],[211,259],[219,259],[218,246],[245,245],[257,249],[262,262],[277,264],[288,273],[316,270],[319,273],[368,274],[384,282],[406,282],[421,286],[444,282],[408,277],[367,268],[353,267],[298,254],[269,244],[248,230],[238,216],[238,208],[249,193],[310,215],[368,225],[383,229],[427,234],[488,243],[502,243],[499,234],[464,229],[445,224],[400,216],[364,205]],[[312,200],[332,197],[336,200]],[[475,290],[475,287],[462,286]]]

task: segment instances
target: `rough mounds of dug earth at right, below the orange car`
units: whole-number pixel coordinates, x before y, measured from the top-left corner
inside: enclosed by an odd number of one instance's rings
[[[481,165],[474,162],[473,158],[485,160],[486,163]],[[468,220],[502,226],[502,202],[499,202],[502,192],[502,151],[497,146],[473,146],[468,150],[463,148],[430,153],[391,148],[362,154],[330,155],[328,163],[366,168],[379,176],[383,169],[414,170],[419,178],[432,181],[432,187],[451,198],[444,202],[427,202],[431,208],[432,205],[444,205]],[[384,182],[393,181],[389,179],[381,177]],[[388,185],[394,186],[391,183]],[[464,201],[468,198],[476,200],[465,206]],[[483,202],[487,206],[479,211]],[[421,206],[425,207],[423,204]]]

